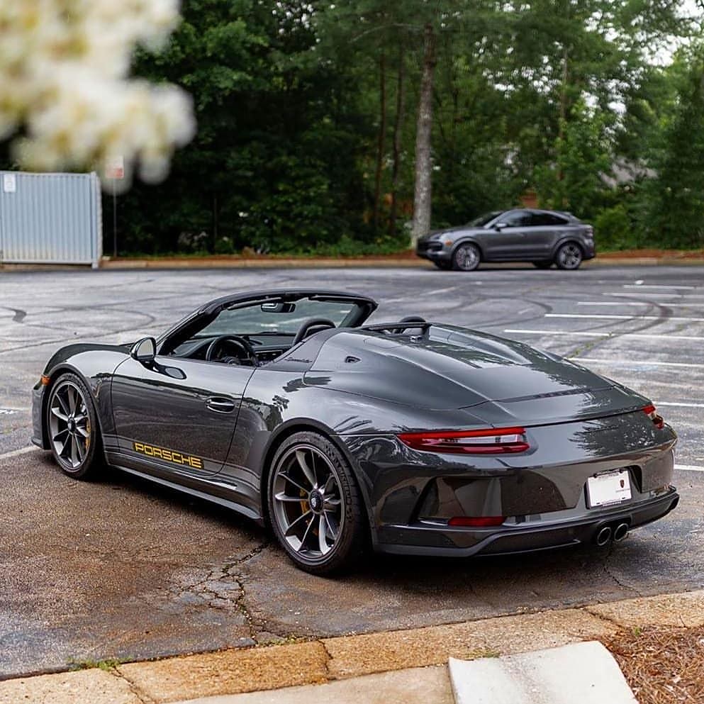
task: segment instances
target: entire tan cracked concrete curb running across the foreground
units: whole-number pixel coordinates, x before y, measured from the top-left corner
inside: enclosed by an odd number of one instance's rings
[[[634,627],[702,624],[704,590],[18,678],[0,682],[0,704],[165,704],[532,652]]]

